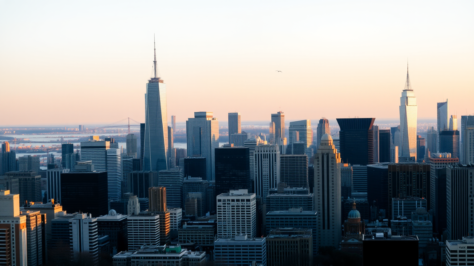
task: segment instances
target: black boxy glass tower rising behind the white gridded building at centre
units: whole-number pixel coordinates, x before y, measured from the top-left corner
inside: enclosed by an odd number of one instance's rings
[[[216,154],[216,195],[231,189],[252,190],[248,147],[221,147]]]

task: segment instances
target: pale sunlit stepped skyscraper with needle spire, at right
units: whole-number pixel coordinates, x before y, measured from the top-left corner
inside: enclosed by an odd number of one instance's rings
[[[416,97],[411,88],[410,76],[408,75],[405,89],[400,97],[400,145],[401,157],[416,157],[416,135],[417,135],[417,112]]]

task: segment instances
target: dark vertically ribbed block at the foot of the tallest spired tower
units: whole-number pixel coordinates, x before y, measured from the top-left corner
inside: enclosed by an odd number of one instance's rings
[[[158,186],[158,173],[155,171],[133,171],[128,173],[127,192],[138,198],[148,197],[148,188]]]

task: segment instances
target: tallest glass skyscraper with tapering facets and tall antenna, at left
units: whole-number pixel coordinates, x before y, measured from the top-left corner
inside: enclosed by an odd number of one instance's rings
[[[168,169],[168,113],[166,109],[166,84],[157,77],[156,48],[153,61],[155,77],[146,83],[145,94],[145,143],[143,169],[159,171]]]

